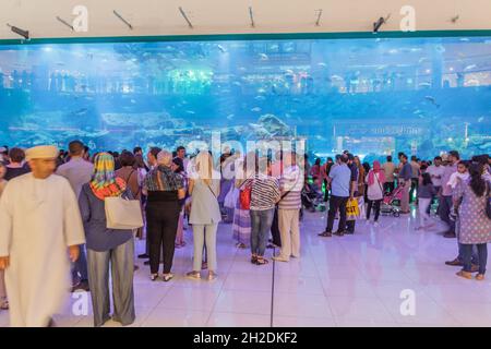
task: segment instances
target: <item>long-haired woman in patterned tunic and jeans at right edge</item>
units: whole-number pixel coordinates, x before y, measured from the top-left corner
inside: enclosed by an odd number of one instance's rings
[[[490,183],[484,180],[482,164],[472,163],[469,166],[469,178],[458,180],[454,190],[454,206],[458,209],[456,221],[458,243],[462,249],[464,268],[458,276],[472,277],[472,245],[477,246],[479,272],[477,280],[483,280],[488,261],[488,245],[491,241],[491,219],[486,214],[486,205],[490,196]]]

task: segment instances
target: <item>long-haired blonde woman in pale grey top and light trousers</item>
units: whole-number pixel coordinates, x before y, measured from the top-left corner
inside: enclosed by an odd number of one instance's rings
[[[221,221],[218,195],[220,173],[213,168],[213,157],[208,152],[201,152],[195,158],[196,173],[189,180],[191,213],[189,222],[193,226],[194,257],[193,269],[188,277],[200,279],[203,248],[206,243],[206,262],[208,280],[216,278],[216,231]]]

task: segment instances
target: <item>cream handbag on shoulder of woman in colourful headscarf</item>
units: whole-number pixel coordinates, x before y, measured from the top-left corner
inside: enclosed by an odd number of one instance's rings
[[[108,229],[132,230],[143,227],[140,201],[112,196],[104,200],[104,206]]]

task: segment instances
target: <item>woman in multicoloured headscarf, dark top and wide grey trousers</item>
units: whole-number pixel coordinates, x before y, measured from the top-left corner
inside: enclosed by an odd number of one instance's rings
[[[115,174],[112,156],[99,153],[94,158],[91,182],[82,186],[79,196],[86,237],[94,326],[97,327],[110,318],[109,278],[112,280],[112,320],[122,325],[130,325],[135,320],[133,232],[108,229],[106,222],[105,198],[115,196],[133,198],[124,180]]]

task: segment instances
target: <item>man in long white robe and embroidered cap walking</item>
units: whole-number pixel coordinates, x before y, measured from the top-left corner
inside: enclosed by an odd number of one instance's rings
[[[85,243],[75,194],[53,174],[57,156],[56,146],[27,149],[32,173],[10,181],[0,200],[0,268],[13,327],[51,324],[69,294],[69,258]]]

